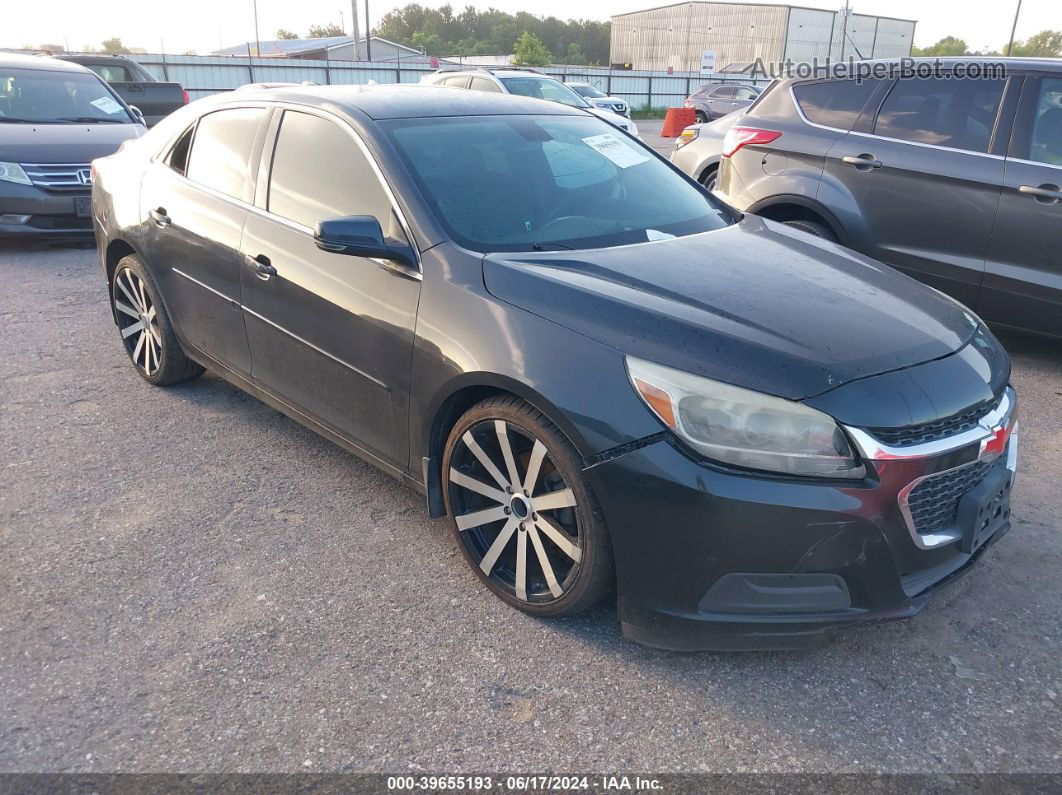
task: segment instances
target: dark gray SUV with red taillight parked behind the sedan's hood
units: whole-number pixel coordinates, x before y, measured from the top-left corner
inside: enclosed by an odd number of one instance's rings
[[[1062,335],[1062,61],[1004,74],[781,80],[730,132],[733,206],[884,260],[1000,325]]]

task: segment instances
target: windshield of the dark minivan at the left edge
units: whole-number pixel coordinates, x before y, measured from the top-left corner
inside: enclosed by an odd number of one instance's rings
[[[0,122],[129,124],[133,119],[95,74],[0,67]]]

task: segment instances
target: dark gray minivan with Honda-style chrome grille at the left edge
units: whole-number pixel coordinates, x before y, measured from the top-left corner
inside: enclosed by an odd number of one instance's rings
[[[0,238],[91,235],[91,161],[143,132],[88,69],[0,53]]]

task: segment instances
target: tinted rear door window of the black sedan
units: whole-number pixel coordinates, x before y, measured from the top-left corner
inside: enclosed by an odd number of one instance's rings
[[[250,204],[255,195],[251,151],[264,115],[263,108],[239,107],[200,119],[188,178]]]

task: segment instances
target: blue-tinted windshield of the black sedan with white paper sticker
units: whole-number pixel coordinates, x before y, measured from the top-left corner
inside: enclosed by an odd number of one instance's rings
[[[599,119],[449,117],[383,126],[451,237],[474,250],[600,248],[732,222]]]

